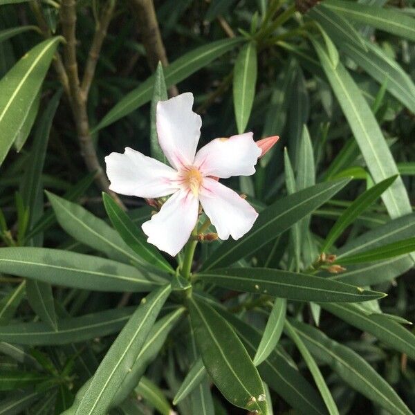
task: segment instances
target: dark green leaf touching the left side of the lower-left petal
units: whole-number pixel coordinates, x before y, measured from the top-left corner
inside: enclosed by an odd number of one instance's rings
[[[147,243],[147,237],[129,216],[106,193],[102,194],[105,210],[113,227],[116,228],[127,246],[132,248],[142,259],[158,268],[174,273],[172,266],[164,259],[154,246]]]

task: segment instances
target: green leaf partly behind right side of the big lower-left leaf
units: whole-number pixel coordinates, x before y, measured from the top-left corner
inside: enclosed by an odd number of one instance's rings
[[[147,366],[156,358],[156,356],[158,356],[167,336],[170,331],[174,329],[184,312],[184,307],[176,308],[172,313],[160,318],[160,320],[154,324],[145,340],[144,346],[131,366],[131,371],[129,371],[127,376],[121,382],[120,387],[118,387],[111,406],[119,405],[127,398],[134,387],[136,387],[141,376],[145,373]]]

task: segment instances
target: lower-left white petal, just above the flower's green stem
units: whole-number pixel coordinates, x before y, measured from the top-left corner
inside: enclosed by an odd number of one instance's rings
[[[198,214],[199,199],[190,191],[179,190],[141,228],[147,242],[174,257],[189,240]]]

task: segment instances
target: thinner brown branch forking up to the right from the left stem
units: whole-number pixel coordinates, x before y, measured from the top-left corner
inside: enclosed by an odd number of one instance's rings
[[[95,68],[97,66],[98,58],[104,42],[109,23],[113,17],[113,11],[116,6],[115,0],[109,0],[109,3],[104,8],[100,21],[98,21],[95,28],[95,35],[92,40],[91,48],[89,50],[88,59],[86,60],[84,77],[82,78],[81,90],[84,95],[88,96],[89,88],[95,75]]]

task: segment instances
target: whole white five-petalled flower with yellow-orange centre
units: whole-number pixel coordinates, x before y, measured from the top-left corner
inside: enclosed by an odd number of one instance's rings
[[[255,173],[261,149],[252,133],[216,138],[196,153],[202,121],[192,105],[192,93],[157,104],[158,141],[172,167],[129,147],[124,154],[105,158],[114,192],[144,198],[172,195],[160,212],[142,224],[147,241],[170,255],[176,255],[190,238],[199,202],[220,239],[239,239],[258,216],[239,194],[215,179]]]

